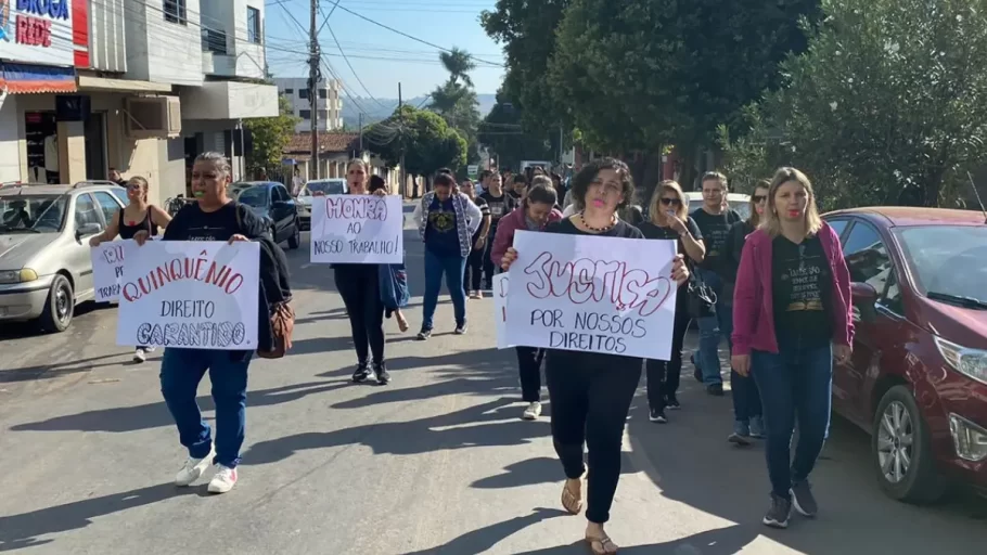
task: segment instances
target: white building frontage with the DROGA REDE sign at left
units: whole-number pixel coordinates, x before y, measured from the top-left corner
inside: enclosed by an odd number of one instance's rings
[[[142,176],[188,195],[191,162],[230,156],[278,115],[264,0],[0,0],[0,182]]]

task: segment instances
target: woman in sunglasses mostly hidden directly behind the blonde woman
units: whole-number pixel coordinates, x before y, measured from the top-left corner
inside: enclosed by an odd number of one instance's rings
[[[744,251],[744,243],[747,242],[747,235],[754,233],[754,230],[760,225],[765,215],[765,207],[768,205],[768,190],[770,188],[771,180],[769,179],[760,181],[754,188],[754,194],[751,195],[751,217],[734,223],[727,233],[727,244],[723,249],[723,267],[727,275],[723,276],[722,301],[730,305],[731,314],[733,313],[733,285],[736,283],[736,270],[740,268],[741,253]],[[733,369],[730,370],[730,389],[733,398],[733,433],[730,434],[727,441],[738,446],[748,446],[752,438],[760,439],[765,437],[760,393],[757,391],[757,384],[753,377],[742,376]]]

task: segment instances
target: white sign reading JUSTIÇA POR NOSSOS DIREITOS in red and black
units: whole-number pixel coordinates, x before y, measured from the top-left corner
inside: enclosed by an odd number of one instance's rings
[[[674,241],[518,231],[510,345],[671,358]]]

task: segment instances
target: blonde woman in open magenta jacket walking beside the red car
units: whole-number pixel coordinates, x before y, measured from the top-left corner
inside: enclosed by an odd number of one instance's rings
[[[809,179],[781,168],[764,221],[747,237],[733,296],[733,369],[754,375],[764,405],[771,508],[764,524],[816,516],[809,473],[830,427],[833,358],[850,357],[850,278],[839,236],[819,217]],[[791,459],[795,422],[798,443]]]

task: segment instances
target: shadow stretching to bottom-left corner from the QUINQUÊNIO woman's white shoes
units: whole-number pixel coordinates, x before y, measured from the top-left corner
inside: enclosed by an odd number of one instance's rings
[[[113,513],[150,505],[179,495],[208,495],[205,488],[205,485],[200,488],[177,488],[174,483],[159,483],[150,488],[86,499],[30,513],[0,516],[0,552],[51,543],[54,540],[40,540],[39,538],[86,528],[92,524],[93,518]]]

